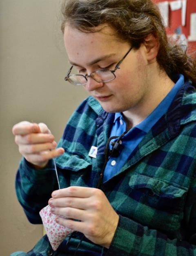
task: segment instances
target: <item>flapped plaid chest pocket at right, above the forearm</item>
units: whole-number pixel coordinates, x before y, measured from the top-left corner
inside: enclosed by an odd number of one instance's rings
[[[129,188],[135,220],[162,231],[180,228],[187,189],[140,174],[131,176]]]

